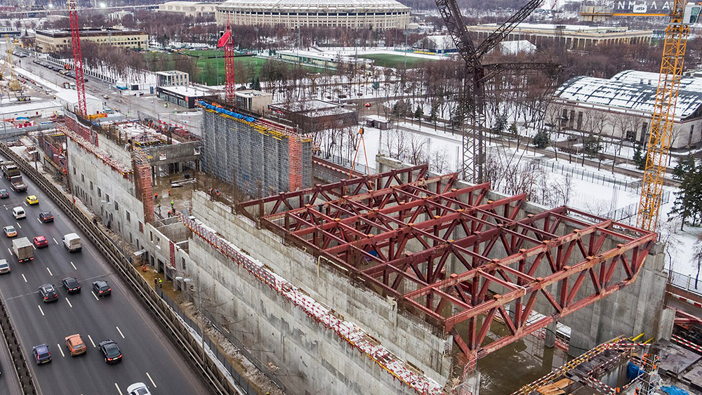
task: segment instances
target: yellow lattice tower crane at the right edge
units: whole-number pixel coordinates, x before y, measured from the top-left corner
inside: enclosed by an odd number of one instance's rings
[[[675,105],[680,90],[680,77],[685,59],[689,25],[696,23],[702,5],[687,3],[685,0],[671,0],[670,13],[647,13],[645,4],[635,6],[632,13],[614,13],[605,6],[588,6],[581,16],[585,20],[598,21],[613,16],[667,16],[670,18],[665,28],[661,74],[658,77],[656,103],[651,119],[646,151],[646,167],[641,187],[637,226],[656,230],[658,214],[661,210],[661,193],[665,180],[665,162],[670,154],[670,139],[673,135]]]

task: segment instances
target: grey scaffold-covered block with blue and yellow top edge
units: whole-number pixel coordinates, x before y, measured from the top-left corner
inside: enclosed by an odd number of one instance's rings
[[[249,196],[312,185],[312,138],[284,123],[201,102],[202,170]]]

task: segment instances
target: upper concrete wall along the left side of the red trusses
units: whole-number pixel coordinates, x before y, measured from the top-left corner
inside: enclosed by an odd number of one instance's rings
[[[409,361],[437,382],[446,382],[451,373],[450,336],[411,314],[398,312],[395,302],[350,283],[336,269],[326,262],[317,262],[305,251],[285,246],[279,236],[256,229],[248,219],[232,215],[227,206],[208,200],[206,194],[196,192],[192,199],[192,214],[197,219],[276,274],[303,288],[318,302],[357,323],[400,359]],[[192,242],[190,250],[192,253]]]

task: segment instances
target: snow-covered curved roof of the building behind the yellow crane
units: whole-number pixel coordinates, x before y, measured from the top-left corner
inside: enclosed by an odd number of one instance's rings
[[[555,96],[561,100],[591,105],[593,108],[652,113],[656,102],[658,74],[647,73],[653,74],[648,79],[654,82],[649,84],[640,82],[638,73],[640,72],[622,72],[612,79],[577,76],[559,86]],[[684,78],[697,81],[687,83],[690,89],[681,86],[675,106],[675,119],[680,120],[702,116],[702,88],[694,90],[698,86],[702,87],[702,78]]]

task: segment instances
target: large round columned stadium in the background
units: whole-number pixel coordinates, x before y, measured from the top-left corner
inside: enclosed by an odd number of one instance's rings
[[[409,10],[395,0],[227,0],[217,7],[217,22],[220,25],[229,20],[232,25],[406,29]]]

